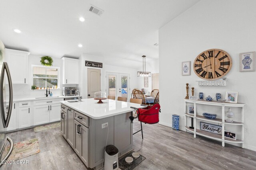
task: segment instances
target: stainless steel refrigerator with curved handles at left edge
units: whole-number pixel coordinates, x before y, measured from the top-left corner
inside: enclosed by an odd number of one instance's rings
[[[5,161],[13,149],[12,139],[7,137],[6,131],[12,115],[12,79],[8,64],[5,62],[5,47],[0,40],[0,168],[6,169]],[[4,149],[10,143],[10,150],[3,154]]]

